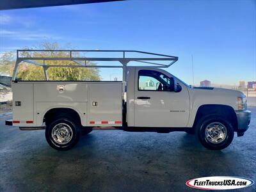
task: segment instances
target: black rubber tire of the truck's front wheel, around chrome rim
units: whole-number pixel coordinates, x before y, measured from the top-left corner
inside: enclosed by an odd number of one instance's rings
[[[224,128],[226,128],[226,136],[223,138],[223,141],[220,139],[220,143],[212,143],[211,139],[207,139],[207,136],[205,135],[205,129],[207,128],[207,125],[224,125]],[[207,130],[209,130],[207,128]],[[207,131],[206,131],[207,132]],[[196,135],[198,136],[198,139],[200,143],[208,149],[211,150],[221,150],[223,148],[228,147],[230,143],[232,142],[234,138],[234,128],[232,127],[232,124],[228,119],[225,119],[221,116],[211,115],[211,116],[205,116],[201,118],[198,123],[196,124]]]

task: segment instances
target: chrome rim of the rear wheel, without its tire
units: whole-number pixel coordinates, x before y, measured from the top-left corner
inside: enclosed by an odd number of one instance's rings
[[[52,129],[52,140],[56,143],[65,145],[71,141],[73,137],[73,131],[68,124],[60,123]]]

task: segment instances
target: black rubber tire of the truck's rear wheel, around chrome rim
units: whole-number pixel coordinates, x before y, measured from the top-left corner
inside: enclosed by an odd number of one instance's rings
[[[58,141],[56,141],[56,135],[52,136],[52,129],[54,129],[56,125],[59,125],[58,127],[61,127],[61,125],[64,125],[64,127],[68,127],[67,128],[68,130],[70,129],[72,130],[70,132],[66,130],[68,138],[70,139],[68,140],[67,143],[60,143],[60,142],[58,143]],[[60,129],[58,127],[56,127],[55,129]],[[46,126],[46,129],[45,129],[45,138],[47,140],[47,143],[49,143],[49,145],[52,148],[55,148],[56,150],[68,150],[74,147],[79,140],[79,136],[80,136],[79,126],[76,124],[76,121],[72,120],[71,118],[60,117],[60,118],[57,118],[56,120],[52,120],[52,122],[49,122],[49,124]]]

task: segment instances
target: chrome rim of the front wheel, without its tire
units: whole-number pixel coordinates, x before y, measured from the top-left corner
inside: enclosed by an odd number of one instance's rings
[[[220,122],[212,122],[205,129],[205,138],[213,144],[221,143],[227,137],[227,127]]]

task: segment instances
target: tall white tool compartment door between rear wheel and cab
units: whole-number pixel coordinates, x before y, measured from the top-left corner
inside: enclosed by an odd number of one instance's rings
[[[122,126],[122,82],[91,83],[88,126]]]

